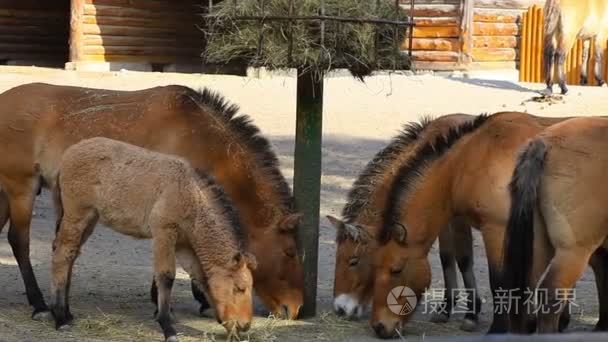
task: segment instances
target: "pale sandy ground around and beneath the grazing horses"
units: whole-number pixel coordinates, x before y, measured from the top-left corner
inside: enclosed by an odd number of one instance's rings
[[[76,73],[41,68],[0,67],[0,91],[29,82],[80,85],[108,89],[141,89],[155,85],[207,86],[238,103],[268,136],[280,156],[282,171],[293,175],[295,79],[292,75],[259,78],[161,73]],[[323,179],[321,214],[338,215],[346,192],[368,160],[393,136],[401,124],[421,115],[482,113],[503,110],[537,115],[605,115],[605,88],[572,87],[564,103],[526,102],[541,85],[479,78],[431,75],[380,75],[365,84],[348,76],[328,78],[323,122]],[[35,99],[32,99],[35,101]],[[45,192],[36,202],[32,223],[31,257],[38,280],[48,295],[54,213]],[[319,314],[315,319],[285,322],[256,318],[249,338],[257,341],[366,340],[372,332],[367,321],[350,322],[331,313],[334,267],[334,232],[321,220],[319,259]],[[2,233],[4,239],[6,231]],[[482,297],[490,300],[483,243],[476,236],[476,274]],[[442,285],[437,249],[430,256],[433,287]],[[0,243],[0,341],[159,341],[160,329],[152,320],[148,289],[151,275],[149,241],[136,241],[98,227],[75,266],[71,303],[76,324],[69,332],[55,332],[51,323],[30,320],[30,308],[15,260],[6,240]],[[189,282],[183,272],[174,287],[175,314],[182,340],[221,340],[221,327],[197,315]],[[588,330],[597,317],[593,275],[578,284],[572,330]],[[578,309],[578,308],[577,308]],[[578,309],[578,311],[580,311]],[[481,333],[488,327],[491,306],[484,305]],[[459,318],[456,316],[456,318]],[[463,334],[458,319],[446,325],[428,322],[419,314],[406,329],[408,338]]]

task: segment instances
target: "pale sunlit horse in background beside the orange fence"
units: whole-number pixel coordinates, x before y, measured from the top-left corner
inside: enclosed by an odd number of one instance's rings
[[[547,0],[545,3],[544,69],[547,91],[553,92],[553,69],[562,94],[568,92],[564,64],[578,38],[595,37],[595,78],[604,83],[602,61],[608,39],[608,3],[605,0]],[[588,52],[587,52],[588,56]],[[586,59],[581,81],[587,83]]]

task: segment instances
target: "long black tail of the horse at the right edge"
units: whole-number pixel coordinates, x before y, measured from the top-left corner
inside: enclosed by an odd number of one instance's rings
[[[503,258],[503,284],[513,290],[512,298],[525,298],[529,284],[534,247],[534,210],[538,201],[538,188],[545,166],[547,147],[543,140],[532,140],[519,155],[513,178],[509,184],[511,209],[505,232]],[[522,300],[518,311],[512,307],[511,329],[525,331]]]

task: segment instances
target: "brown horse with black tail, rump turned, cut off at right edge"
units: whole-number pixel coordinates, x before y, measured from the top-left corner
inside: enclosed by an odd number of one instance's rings
[[[540,333],[558,331],[557,317],[572,300],[568,290],[592,256],[608,249],[608,194],[598,187],[608,170],[607,137],[608,119],[571,119],[539,134],[517,161],[510,184],[505,285],[538,286],[544,291],[538,311]],[[606,281],[605,273],[604,268],[600,281]],[[606,298],[600,296],[600,306],[604,304]],[[519,310],[511,311],[511,331],[521,331],[523,310],[520,303]],[[606,323],[600,314],[598,325]]]

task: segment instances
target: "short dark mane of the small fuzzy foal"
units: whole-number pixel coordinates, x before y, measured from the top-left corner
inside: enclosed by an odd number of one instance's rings
[[[224,188],[220,184],[218,184],[213,176],[206,173],[205,171],[196,168],[196,174],[198,175],[198,180],[205,188],[206,191],[210,191],[213,195],[213,199],[216,203],[219,204],[220,209],[222,210],[221,214],[228,219],[228,223],[232,228],[232,233],[234,237],[239,242],[239,245],[242,249],[247,248],[247,239],[245,235],[245,231],[243,230],[243,226],[241,225],[241,221],[239,220],[239,215],[236,207],[230,200],[230,197],[224,191]]]

